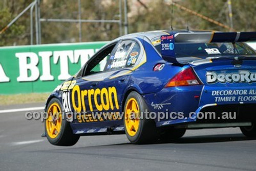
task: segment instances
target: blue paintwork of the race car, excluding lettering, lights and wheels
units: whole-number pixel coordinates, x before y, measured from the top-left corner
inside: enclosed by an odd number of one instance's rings
[[[167,31],[166,31],[167,32]],[[187,32],[187,31],[179,31]],[[169,34],[175,34],[177,31],[170,32]],[[164,34],[163,34],[164,35]],[[232,35],[232,34],[231,34]],[[127,36],[119,38],[127,38]],[[131,71],[129,74],[117,77],[115,79],[110,79],[110,77],[118,74],[119,71],[112,74],[109,78],[105,78],[103,81],[85,81],[81,78],[70,78],[70,80],[76,80],[76,85],[80,86],[80,89],[91,89],[93,84],[96,84],[94,89],[115,86],[117,89],[119,110],[115,109],[115,112],[122,112],[123,105],[125,103],[125,97],[130,91],[137,91],[140,93],[148,107],[152,112],[159,112],[166,110],[172,112],[183,112],[186,117],[188,117],[189,112],[198,113],[204,105],[215,104],[214,96],[211,96],[212,90],[233,90],[233,89],[256,89],[256,83],[206,83],[206,71],[216,71],[217,73],[232,73],[238,70],[250,70],[251,72],[256,72],[256,62],[255,60],[244,60],[243,66],[241,68],[236,68],[230,63],[230,59],[213,60],[212,63],[205,63],[200,65],[185,64],[177,65],[174,63],[166,62],[162,59],[160,54],[156,51],[152,43],[148,41],[147,36],[140,34],[130,35],[129,38],[136,38],[141,42],[146,53],[146,62],[140,67]],[[217,39],[218,37],[216,37]],[[116,40],[115,40],[116,41]],[[160,71],[153,71],[156,64],[165,64],[164,68]],[[196,74],[198,75],[202,85],[195,86],[180,86],[180,87],[169,87],[164,86],[167,82],[173,78],[178,72],[192,67]],[[120,80],[124,80],[120,82]],[[206,91],[205,91],[206,90]],[[57,98],[60,102],[62,91],[59,89],[54,90],[46,103],[48,105],[50,99],[53,97]],[[198,96],[198,97],[195,97]],[[77,103],[77,102],[76,102]],[[164,105],[162,109],[154,108],[153,104],[169,104]],[[222,102],[217,104],[237,104],[238,102]],[[250,101],[246,103],[256,103],[255,101]],[[94,109],[95,106],[93,106]],[[72,111],[74,111],[72,107]],[[109,110],[111,111],[111,110]],[[89,107],[87,106],[87,112]],[[196,121],[196,119],[161,119],[155,120],[156,126],[166,126],[173,124],[182,124],[187,122]],[[112,121],[98,121],[92,123],[78,123],[74,120],[71,123],[71,128],[75,134],[86,134],[86,133],[101,133],[106,132],[107,128],[114,127],[114,131],[123,131],[123,120],[112,120]]]

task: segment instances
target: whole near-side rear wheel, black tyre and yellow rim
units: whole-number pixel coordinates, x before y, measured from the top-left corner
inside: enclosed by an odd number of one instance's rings
[[[132,143],[152,143],[158,138],[156,123],[153,119],[145,118],[146,110],[148,109],[142,96],[132,91],[126,98],[123,118],[125,134]],[[137,118],[132,119],[132,114]],[[142,118],[141,114],[143,114]]]

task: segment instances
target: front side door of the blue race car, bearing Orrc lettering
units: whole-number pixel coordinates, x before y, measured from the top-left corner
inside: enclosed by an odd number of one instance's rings
[[[104,105],[101,102],[101,94],[103,91],[104,96],[105,89],[102,90],[101,82],[108,76],[104,72],[104,68],[117,44],[118,42],[115,42],[97,52],[78,72],[77,77],[74,78],[74,86],[70,90],[72,111],[78,114],[81,113],[83,116],[79,116],[75,120],[76,122],[94,123],[99,121],[92,114],[103,110]]]

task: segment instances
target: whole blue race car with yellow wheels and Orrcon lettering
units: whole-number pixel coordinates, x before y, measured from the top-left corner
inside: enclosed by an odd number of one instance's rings
[[[256,137],[256,32],[163,30],[103,46],[49,96],[54,145],[123,134],[132,143],[172,140],[186,129],[240,127]]]

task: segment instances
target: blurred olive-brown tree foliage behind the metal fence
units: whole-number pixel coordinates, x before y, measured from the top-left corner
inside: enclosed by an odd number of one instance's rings
[[[0,1],[0,29],[33,0]],[[170,29],[172,0],[128,1],[129,32]],[[175,0],[175,3],[230,26],[227,0]],[[173,6],[173,28],[229,31]],[[233,26],[236,31],[255,31],[256,3],[232,0]],[[41,0],[41,18],[78,19],[78,1]],[[81,0],[82,19],[119,19],[119,0]],[[34,22],[35,23],[35,22]],[[79,42],[76,22],[41,22],[42,43]],[[35,29],[34,29],[35,33]],[[119,36],[118,23],[82,23],[82,41],[112,40]],[[34,36],[35,37],[35,36]],[[26,12],[0,35],[0,46],[30,44],[30,13]]]

